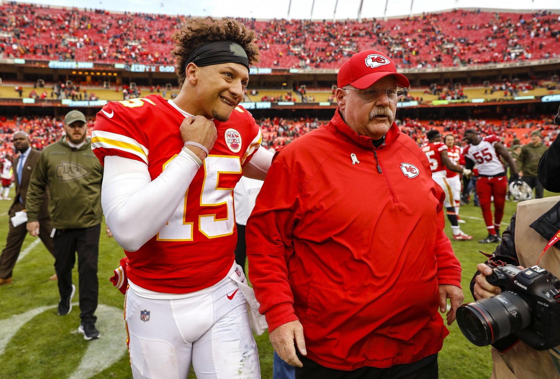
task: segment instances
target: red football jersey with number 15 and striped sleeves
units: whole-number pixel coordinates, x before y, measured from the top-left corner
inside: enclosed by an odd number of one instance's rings
[[[186,115],[159,95],[111,101],[97,113],[92,149],[101,163],[108,155],[144,162],[154,180],[183,147],[179,126]],[[233,189],[262,135],[240,106],[214,124],[217,141],[169,222],[138,251],[125,251],[127,277],[137,286],[194,292],[216,284],[234,263]]]

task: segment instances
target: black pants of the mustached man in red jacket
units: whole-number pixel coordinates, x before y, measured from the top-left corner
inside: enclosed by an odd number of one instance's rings
[[[297,349],[296,349],[297,350]],[[437,379],[437,354],[413,363],[395,364],[388,368],[360,367],[352,371],[321,366],[297,352],[304,367],[296,367],[296,379]]]

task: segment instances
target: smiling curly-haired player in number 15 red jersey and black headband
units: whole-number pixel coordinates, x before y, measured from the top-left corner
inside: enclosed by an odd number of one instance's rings
[[[259,378],[232,196],[241,175],[263,180],[273,156],[239,106],[255,34],[208,17],[173,39],[179,95],[109,102],[92,132],[106,222],[127,255],[132,373],[186,378],[192,362],[199,379]]]

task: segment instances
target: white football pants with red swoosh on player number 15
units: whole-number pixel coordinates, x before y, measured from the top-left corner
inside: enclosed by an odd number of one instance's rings
[[[124,320],[134,379],[186,379],[191,361],[197,379],[260,378],[246,300],[235,281],[200,292],[154,300],[128,288]]]

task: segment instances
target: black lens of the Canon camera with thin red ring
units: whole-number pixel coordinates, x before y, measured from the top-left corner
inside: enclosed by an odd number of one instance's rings
[[[461,305],[457,310],[457,324],[466,339],[477,346],[486,346],[527,327],[530,314],[524,298],[505,291]]]

